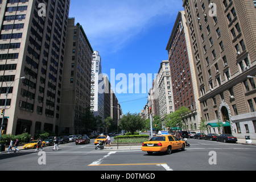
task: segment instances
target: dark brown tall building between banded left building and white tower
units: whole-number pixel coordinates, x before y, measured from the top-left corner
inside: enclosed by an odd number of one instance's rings
[[[60,132],[81,134],[86,108],[90,108],[93,49],[84,28],[75,18],[68,19],[61,91]]]

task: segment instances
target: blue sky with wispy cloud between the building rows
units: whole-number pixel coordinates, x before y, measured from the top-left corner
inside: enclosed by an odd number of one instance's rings
[[[71,0],[69,17],[75,17],[93,50],[99,51],[102,73],[112,80],[123,114],[139,113],[146,105],[148,90],[144,92],[142,80],[140,87],[129,82],[129,73],[154,79],[162,60],[168,59],[166,46],[181,10],[181,0]],[[111,69],[115,72],[112,77]],[[127,88],[126,93],[117,93],[118,86],[125,83],[117,79],[118,74],[127,77],[127,86],[119,87]],[[148,84],[150,88],[152,80]],[[139,93],[135,88],[140,88]]]

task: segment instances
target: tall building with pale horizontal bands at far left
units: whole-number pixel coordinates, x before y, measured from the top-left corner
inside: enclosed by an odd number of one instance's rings
[[[39,3],[46,6],[38,8]],[[10,87],[6,134],[58,133],[68,13],[69,0],[0,1],[2,108]]]

